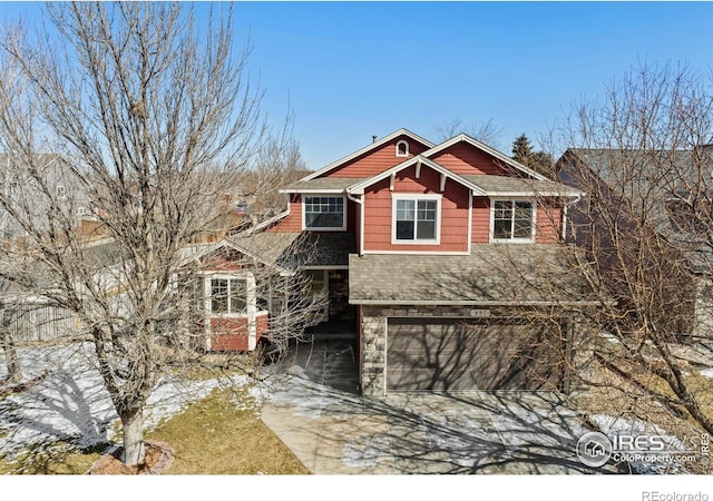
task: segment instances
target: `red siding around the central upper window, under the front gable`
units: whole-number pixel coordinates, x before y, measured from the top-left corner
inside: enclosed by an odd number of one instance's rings
[[[400,252],[467,252],[468,203],[470,190],[452,180],[446,181],[441,199],[440,245],[391,244],[392,194],[440,194],[440,174],[429,167],[421,168],[416,178],[416,168],[409,167],[397,174],[394,189],[389,189],[389,179],[375,184],[364,195],[364,250]]]

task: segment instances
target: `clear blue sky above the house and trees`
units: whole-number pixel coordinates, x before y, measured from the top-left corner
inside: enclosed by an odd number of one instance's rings
[[[7,19],[30,9],[0,3]],[[492,119],[509,153],[638,60],[713,68],[711,2],[240,2],[250,69],[311,169],[406,127]],[[290,97],[287,99],[287,96]]]

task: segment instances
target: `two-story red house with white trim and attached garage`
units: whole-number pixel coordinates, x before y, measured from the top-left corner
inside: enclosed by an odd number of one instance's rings
[[[286,266],[291,242],[314,242],[300,271],[329,297],[316,331],[353,336],[364,394],[561,389],[568,305],[587,301],[561,244],[579,190],[467,135],[400,129],[284,193],[286,212],[226,245]],[[270,315],[252,301],[251,346]]]

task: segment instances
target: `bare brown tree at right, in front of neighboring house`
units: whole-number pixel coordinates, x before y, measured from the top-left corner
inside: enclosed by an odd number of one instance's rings
[[[585,250],[573,254],[573,269],[600,303],[587,314],[603,334],[589,344],[596,364],[629,394],[713,433],[711,402],[691,374],[713,353],[710,77],[633,68],[602,100],[575,106],[557,168],[586,193],[568,220]]]

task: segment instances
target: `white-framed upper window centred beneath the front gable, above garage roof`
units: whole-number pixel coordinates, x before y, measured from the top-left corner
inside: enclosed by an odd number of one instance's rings
[[[392,244],[438,244],[440,195],[393,195]]]

